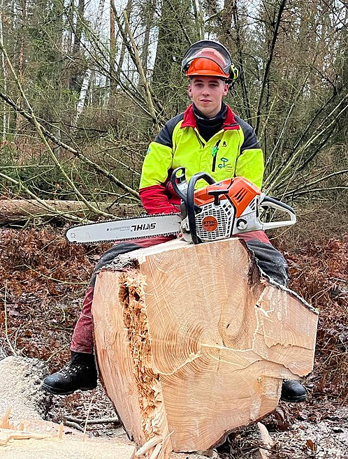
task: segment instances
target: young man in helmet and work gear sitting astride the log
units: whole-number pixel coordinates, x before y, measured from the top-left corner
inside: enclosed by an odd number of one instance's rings
[[[189,78],[192,103],[187,110],[166,123],[145,156],[139,193],[149,214],[179,212],[180,198],[175,195],[170,182],[171,173],[177,167],[186,168],[187,180],[195,173],[206,172],[217,182],[243,176],[259,188],[262,184],[263,153],[254,130],[223,102],[230,82],[238,77],[228,50],[214,41],[198,41],[187,50],[182,69]],[[287,263],[282,254],[270,245],[266,234],[253,231],[240,237],[254,252],[259,267],[269,277],[286,285]],[[45,378],[43,388],[46,391],[65,395],[96,386],[91,317],[96,270],[119,254],[171,238],[122,242],[101,256],[75,326],[71,362]],[[284,381],[282,398],[305,400],[305,388],[297,381]]]

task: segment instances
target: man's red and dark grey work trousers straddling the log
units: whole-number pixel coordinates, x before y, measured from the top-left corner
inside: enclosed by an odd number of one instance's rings
[[[251,231],[250,233],[243,233],[242,235],[238,235],[238,238],[245,240],[245,242],[257,240],[266,247],[271,247],[273,249],[272,245],[270,245],[270,241],[268,240],[266,233],[263,233],[263,231]],[[71,351],[83,352],[86,354],[93,353],[93,323],[91,309],[94,293],[94,284],[96,281],[96,271],[103,268],[103,266],[108,265],[108,263],[113,261],[113,259],[115,259],[115,257],[119,254],[131,252],[133,250],[139,249],[140,247],[150,247],[152,245],[161,244],[162,242],[167,242],[171,239],[175,239],[175,236],[160,236],[158,238],[117,242],[117,244],[115,244],[113,247],[111,247],[111,249],[109,249],[101,256],[99,262],[96,264],[96,267],[94,268],[91,281],[89,282],[89,287],[85,293],[85,299],[82,303],[82,311],[80,314],[80,318],[78,319],[78,322],[75,326],[75,330],[73,332]],[[273,249],[273,251],[277,252],[275,249]],[[277,254],[282,256],[279,252],[277,252]]]

